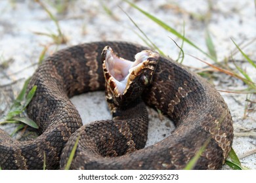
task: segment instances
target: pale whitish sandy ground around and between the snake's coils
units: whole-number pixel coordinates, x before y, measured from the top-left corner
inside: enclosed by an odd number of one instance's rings
[[[131,41],[145,44],[139,38],[138,29],[123,13],[123,9],[133,18],[140,29],[170,58],[177,59],[181,39],[165,31],[151,20],[148,20],[138,10],[131,8],[123,1],[70,1],[62,3],[64,10],[57,12],[57,6],[51,1],[42,1],[53,12],[59,21],[60,27],[68,41],[56,46],[50,37],[38,35],[41,33],[56,33],[56,26],[41,6],[33,1],[0,1],[0,118],[6,114],[11,101],[22,88],[24,80],[31,76],[37,67],[37,61],[45,46],[47,55],[60,48],[90,41]],[[255,68],[246,63],[230,38],[242,44],[244,52],[253,60],[256,59],[256,21],[255,4],[253,1],[136,1],[136,4],[160,18],[163,22],[182,33],[185,24],[185,36],[203,50],[205,31],[209,30],[219,61],[228,59],[230,54],[236,63],[242,67],[251,79],[256,81]],[[102,5],[102,3],[104,5]],[[111,10],[108,14],[104,6]],[[254,40],[254,42],[253,42]],[[245,46],[246,44],[249,44]],[[197,58],[212,61],[188,44],[183,47],[184,65],[194,71],[208,69],[206,65],[188,54]],[[230,63],[232,67],[232,63]],[[196,69],[195,69],[196,68]],[[209,80],[218,90],[243,90],[247,86],[240,80],[214,72],[214,79]],[[255,101],[255,95],[221,92],[230,108],[234,120],[233,148],[240,157],[242,164],[250,169],[256,169],[256,112],[255,102],[247,103],[245,99]],[[81,114],[84,123],[100,119],[111,118],[104,101],[104,93],[87,93],[72,99]],[[93,107],[86,108],[90,105]],[[247,110],[245,110],[247,106]],[[168,120],[159,120],[158,114],[150,112],[150,129],[148,144],[160,141],[173,130],[173,124]],[[13,131],[13,125],[3,125],[6,131]],[[244,157],[244,158],[243,158]],[[224,166],[224,169],[228,169]]]

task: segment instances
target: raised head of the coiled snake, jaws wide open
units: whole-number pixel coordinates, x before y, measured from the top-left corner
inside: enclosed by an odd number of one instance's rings
[[[137,99],[152,82],[159,57],[156,52],[143,50],[135,55],[135,61],[129,61],[106,46],[102,51],[102,67],[107,101],[123,106]]]

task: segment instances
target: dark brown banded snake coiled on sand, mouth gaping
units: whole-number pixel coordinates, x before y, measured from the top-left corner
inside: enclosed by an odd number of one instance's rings
[[[201,76],[150,50],[131,42],[101,41],[46,58],[26,92],[37,86],[26,112],[39,125],[39,136],[17,141],[0,129],[1,169],[65,169],[72,152],[70,169],[185,169],[196,157],[192,169],[221,169],[234,137],[223,97]],[[123,66],[111,63],[115,60],[142,63],[121,71]],[[116,82],[120,77],[125,86]],[[99,90],[106,91],[113,120],[83,125],[70,97]],[[175,130],[144,148],[146,106],[161,111]]]

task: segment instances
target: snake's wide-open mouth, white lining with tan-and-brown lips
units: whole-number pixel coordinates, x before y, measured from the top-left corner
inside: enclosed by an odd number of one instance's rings
[[[135,61],[129,61],[119,58],[110,46],[104,48],[102,52],[104,76],[116,95],[123,95],[140,71],[148,67],[146,62],[149,62],[152,54],[156,53],[143,50],[135,55]],[[152,65],[152,67],[154,66]]]

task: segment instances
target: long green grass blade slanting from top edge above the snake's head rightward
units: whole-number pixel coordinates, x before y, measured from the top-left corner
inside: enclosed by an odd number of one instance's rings
[[[142,10],[141,8],[137,7],[135,4],[124,0],[125,2],[129,3],[129,5],[131,5],[131,7],[136,8],[137,10],[139,10],[140,12],[142,12],[142,14],[144,14],[145,16],[147,16],[148,18],[150,18],[152,21],[156,22],[156,24],[160,25],[161,27],[163,27],[163,29],[169,31],[170,33],[173,33],[174,35],[176,35],[177,37],[183,39],[185,42],[187,42],[188,44],[190,44],[191,46],[193,46],[194,48],[196,48],[197,50],[199,50],[200,52],[202,52],[203,54],[205,54],[205,56],[207,56],[208,58],[213,59],[209,54],[207,54],[206,52],[204,52],[201,48],[199,48],[198,46],[196,46],[196,44],[194,44],[193,42],[191,42],[190,40],[188,40],[186,37],[183,37],[178,31],[176,31],[175,29],[173,29],[172,27],[170,27],[169,25],[165,24],[164,22],[162,22],[160,19],[156,18],[155,16],[152,16],[152,14],[149,14],[148,12],[145,12],[144,10]],[[214,59],[213,59],[214,60]]]

